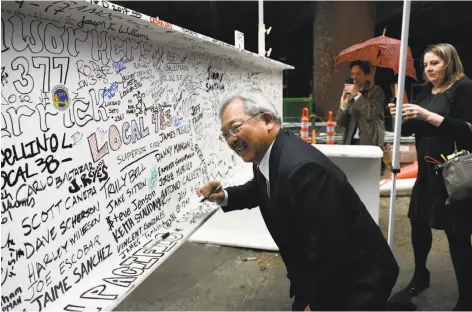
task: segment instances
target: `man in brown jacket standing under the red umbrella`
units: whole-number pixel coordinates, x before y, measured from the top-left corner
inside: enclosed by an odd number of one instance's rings
[[[342,144],[376,145],[383,147],[385,136],[385,94],[377,85],[370,85],[371,64],[353,61],[349,68],[340,100],[336,123],[344,127]]]

